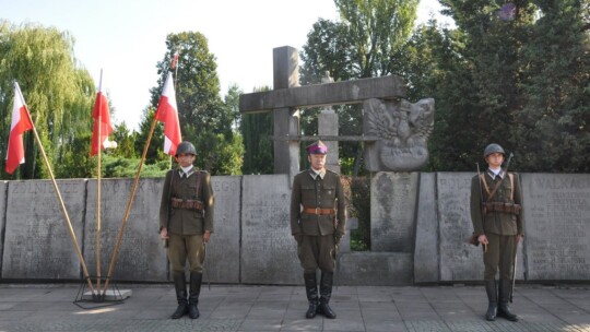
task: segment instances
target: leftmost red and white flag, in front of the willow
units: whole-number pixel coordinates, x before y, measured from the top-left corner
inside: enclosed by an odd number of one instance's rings
[[[9,147],[7,152],[7,173],[13,174],[19,165],[24,163],[23,133],[33,129],[31,115],[19,87],[14,82],[14,106],[12,107],[12,122],[10,124]]]

